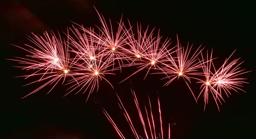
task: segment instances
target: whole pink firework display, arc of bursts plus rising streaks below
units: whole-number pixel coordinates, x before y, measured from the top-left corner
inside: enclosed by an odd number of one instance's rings
[[[213,64],[215,58],[212,58],[212,52],[208,56],[207,51],[205,57],[204,48],[201,46],[196,51],[192,51],[192,46],[189,44],[181,46],[177,40],[177,45],[172,47],[170,46],[170,39],[163,39],[159,31],[155,35],[154,29],[149,30],[147,27],[143,30],[140,24],[134,27],[129,21],[127,22],[128,26],[125,26],[122,18],[117,22],[117,28],[112,28],[111,21],[107,22],[101,14],[99,14],[99,20],[102,26],[96,27],[96,29],[84,28],[79,25],[68,28],[67,33],[65,33],[66,40],[61,39],[60,34],[45,32],[42,36],[33,34],[33,37],[29,37],[33,45],[26,45],[27,48],[17,46],[28,51],[30,55],[27,55],[26,58],[15,57],[12,60],[22,64],[19,67],[24,70],[33,71],[33,74],[22,77],[38,77],[35,82],[44,81],[39,88],[30,94],[47,85],[52,85],[54,88],[58,84],[65,83],[65,85],[70,85],[67,94],[74,91],[76,93],[86,92],[89,98],[93,91],[98,90],[100,81],[105,80],[111,85],[105,75],[114,76],[113,71],[122,71],[122,68],[134,66],[138,68],[134,74],[147,69],[145,77],[151,69],[157,71],[152,74],[165,74],[165,79],[168,79],[165,85],[169,85],[175,79],[182,78],[196,101],[201,94],[204,94],[205,105],[208,103],[209,94],[212,94],[218,106],[221,101],[224,101],[223,94],[229,95],[232,90],[243,91],[241,87],[243,83],[247,83],[244,82],[243,78],[239,78],[239,75],[249,71],[240,68],[242,62],[239,62],[239,59],[230,60],[233,53],[220,68],[216,69]],[[136,29],[134,30],[134,28]],[[192,79],[201,83],[201,92],[198,97],[189,87]],[[155,132],[152,111],[150,110],[149,113],[151,116],[148,116],[147,112],[146,121],[153,123],[153,125],[149,124],[150,132],[148,132],[137,98],[134,91],[132,92],[147,139],[157,139],[158,135]],[[160,112],[159,99],[158,104]],[[136,139],[139,139],[140,136],[133,127],[121,101],[119,106],[124,111]],[[120,137],[125,139],[105,109],[103,111]],[[162,124],[161,119],[160,122]],[[163,130],[161,133],[163,138]]]

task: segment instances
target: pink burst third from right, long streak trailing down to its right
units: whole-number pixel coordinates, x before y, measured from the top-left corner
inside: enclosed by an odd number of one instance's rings
[[[202,75],[202,73],[198,72],[198,68],[201,68],[201,61],[198,61],[197,56],[204,49],[199,50],[201,48],[201,46],[199,46],[194,53],[190,54],[191,48],[192,46],[189,48],[189,43],[186,48],[181,47],[177,37],[177,57],[173,57],[171,53],[166,54],[166,60],[165,63],[163,63],[164,66],[161,68],[161,71],[163,72],[153,74],[166,74],[167,77],[163,79],[170,79],[168,82],[166,82],[166,86],[169,85],[174,79],[183,77],[186,85],[189,87],[188,82],[191,83],[191,78],[195,78],[194,76],[197,75]],[[166,64],[166,62],[169,62],[170,64]],[[192,95],[195,98],[195,95],[190,87],[189,90],[192,92]]]

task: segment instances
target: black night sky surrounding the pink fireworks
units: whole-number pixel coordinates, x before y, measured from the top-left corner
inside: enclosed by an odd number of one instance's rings
[[[140,22],[143,26],[160,28],[161,35],[171,37],[176,44],[176,34],[180,42],[194,43],[212,49],[215,57],[219,57],[217,65],[237,49],[234,58],[241,57],[245,62],[241,65],[248,71],[254,70],[255,21],[252,3],[223,2],[186,2],[177,0],[156,1],[111,1],[111,0],[9,0],[1,2],[1,59],[14,56],[23,57],[21,49],[11,44],[23,46],[29,43],[26,34],[41,34],[45,30],[66,31],[73,22],[89,27],[100,25],[96,9],[105,18],[117,21],[121,15],[131,23]],[[169,2],[167,2],[169,1]],[[37,93],[20,99],[39,85],[21,87],[29,83],[29,79],[13,78],[26,74],[14,68],[16,62],[2,62],[1,91],[1,139],[119,139],[112,125],[108,122],[92,97],[84,103],[87,94],[65,94],[65,88],[42,89]],[[131,103],[129,81],[125,79],[132,70],[124,69],[115,78],[109,77],[115,91],[123,98],[125,105],[133,115],[135,105]],[[254,72],[254,71],[253,71]],[[160,95],[164,128],[168,123],[172,126],[172,139],[218,138],[247,139],[255,136],[255,92],[254,73],[245,74],[250,84],[244,85],[247,93],[232,91],[220,111],[210,99],[204,111],[203,99],[196,104],[192,94],[182,80],[176,80],[167,87],[161,87],[166,80],[150,75],[145,80],[145,71],[131,77],[134,90],[141,102],[146,102],[147,94],[157,105],[157,91]],[[193,87],[198,90],[198,85]],[[192,88],[192,89],[193,89]],[[199,90],[198,90],[199,91]],[[113,89],[106,83],[94,93],[104,108],[120,125],[120,129],[132,139],[122,111],[119,110]],[[135,119],[138,118],[134,115]],[[136,121],[136,120],[135,120]],[[143,134],[141,132],[140,134]]]

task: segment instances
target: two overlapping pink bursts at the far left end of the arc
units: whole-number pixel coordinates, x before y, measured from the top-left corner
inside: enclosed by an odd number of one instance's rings
[[[44,32],[44,36],[39,36],[35,34],[33,35],[34,37],[28,38],[32,43],[34,43],[33,46],[26,45],[29,47],[29,49],[17,46],[19,48],[22,48],[23,50],[28,51],[31,55],[27,55],[28,58],[15,57],[17,58],[17,60],[14,60],[18,61],[20,64],[26,65],[18,66],[23,70],[34,70],[33,74],[20,77],[26,77],[25,79],[27,79],[32,76],[41,76],[41,78],[29,84],[48,80],[46,83],[44,83],[44,85],[41,85],[30,94],[39,91],[46,85],[54,84],[53,87],[50,89],[51,91],[62,78],[64,82],[67,76],[73,77],[73,75],[75,74],[72,74],[70,68],[76,63],[75,61],[70,60],[70,55],[68,53],[69,47],[65,43],[65,41],[61,40],[60,34],[59,38],[56,37],[53,32],[50,34]],[[29,96],[30,94],[26,96]]]

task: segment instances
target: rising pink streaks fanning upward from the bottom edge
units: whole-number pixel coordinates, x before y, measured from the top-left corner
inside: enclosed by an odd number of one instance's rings
[[[137,100],[137,97],[135,95],[134,90],[131,89],[131,92],[132,92],[133,97],[134,97],[134,103],[136,105],[137,112],[138,112],[139,117],[140,117],[140,122],[141,122],[141,124],[143,126],[145,139],[163,139],[163,122],[162,122],[162,118],[161,118],[160,99],[159,99],[159,97],[158,97],[158,112],[159,112],[160,119],[159,119],[158,125],[160,125],[160,128],[157,129],[158,126],[156,125],[157,122],[155,121],[155,118],[153,116],[153,111],[152,111],[152,108],[151,108],[151,101],[149,99],[149,96],[148,96],[148,100],[149,100],[149,106],[150,107],[148,109],[145,106],[145,113],[146,114],[144,115],[143,111],[140,108],[140,105],[139,105],[139,102]],[[122,109],[122,111],[123,111],[123,113],[125,115],[125,118],[126,118],[127,122],[129,123],[130,128],[131,128],[135,138],[136,139],[143,139],[143,137],[139,135],[136,127],[134,127],[134,123],[132,122],[128,112],[126,111],[126,109],[125,109],[121,99],[119,98],[118,95],[117,95],[117,97],[119,99],[119,103],[118,103],[119,107]],[[111,116],[108,114],[108,112],[104,108],[102,108],[102,111],[104,112],[104,114],[108,118],[108,120],[111,122],[111,124],[115,128],[116,132],[119,134],[120,138],[121,139],[125,139],[125,136],[122,134],[122,132],[120,131],[120,129],[118,128],[116,123],[113,121]],[[157,130],[160,131],[160,133]],[[168,139],[170,139],[170,138],[171,138],[171,130],[170,130],[170,124],[169,124]]]

